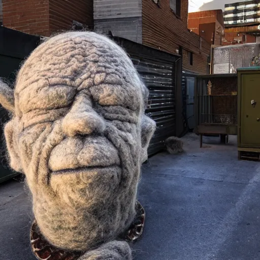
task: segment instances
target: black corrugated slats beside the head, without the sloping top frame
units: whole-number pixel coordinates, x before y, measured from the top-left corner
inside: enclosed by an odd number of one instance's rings
[[[164,141],[175,136],[175,69],[173,63],[132,59],[150,91],[146,114],[157,125],[148,154],[164,148]]]

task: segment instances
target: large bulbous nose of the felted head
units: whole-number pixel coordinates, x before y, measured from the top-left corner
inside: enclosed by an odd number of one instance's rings
[[[103,133],[105,120],[96,113],[85,95],[78,96],[71,110],[62,120],[63,133],[69,137]]]

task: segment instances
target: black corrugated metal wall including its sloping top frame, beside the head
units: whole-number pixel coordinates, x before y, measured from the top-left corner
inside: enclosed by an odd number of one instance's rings
[[[165,140],[176,135],[176,60],[179,56],[114,37],[131,57],[150,91],[146,114],[157,125],[148,155],[165,147]]]

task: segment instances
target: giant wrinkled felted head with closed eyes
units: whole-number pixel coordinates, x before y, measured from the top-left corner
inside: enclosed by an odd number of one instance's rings
[[[127,54],[94,32],[49,39],[25,61],[14,91],[0,83],[0,103],[12,113],[10,166],[25,174],[50,246],[84,260],[132,259],[118,238],[136,216],[155,129],[147,98]]]

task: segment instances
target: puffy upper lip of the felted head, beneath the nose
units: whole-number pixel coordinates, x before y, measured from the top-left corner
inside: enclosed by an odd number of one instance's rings
[[[67,138],[51,152],[53,174],[89,172],[120,166],[117,149],[105,137]]]

